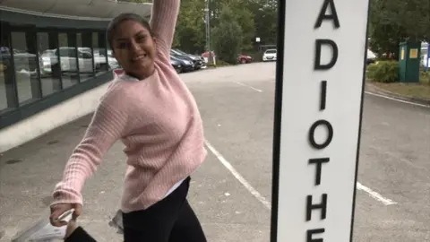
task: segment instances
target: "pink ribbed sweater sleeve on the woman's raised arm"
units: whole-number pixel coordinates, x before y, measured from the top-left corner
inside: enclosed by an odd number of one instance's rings
[[[180,0],[153,0],[150,28],[157,39],[157,46],[166,56],[170,54]]]

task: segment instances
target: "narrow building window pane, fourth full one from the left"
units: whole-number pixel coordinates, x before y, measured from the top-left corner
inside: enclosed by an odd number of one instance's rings
[[[80,81],[85,82],[94,76],[94,65],[91,52],[91,33],[77,33]]]

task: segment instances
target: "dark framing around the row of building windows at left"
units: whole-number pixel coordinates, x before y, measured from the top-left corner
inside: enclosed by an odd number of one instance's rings
[[[47,32],[47,34],[56,34],[56,46],[58,49],[59,45],[59,33],[73,33],[73,36],[77,38],[77,33],[90,33],[90,32],[98,32],[98,36],[106,36],[106,27],[107,22],[106,21],[82,21],[82,20],[71,20],[71,19],[61,19],[61,18],[54,18],[54,17],[42,17],[37,15],[32,15],[29,13],[12,13],[10,11],[4,11],[0,10],[0,21],[2,24],[2,34],[6,35],[9,40],[9,48],[13,47],[13,43],[11,41],[11,33],[15,31],[24,31],[27,34],[31,35],[31,38],[36,39],[33,43],[30,43],[31,45],[36,45],[37,51],[37,60],[39,63],[39,39],[37,38],[37,34],[39,32]],[[86,28],[79,28],[79,26],[87,26]],[[92,45],[92,36],[91,36],[91,53],[93,53],[93,45]],[[99,40],[101,41],[101,40]],[[103,39],[103,41],[106,41]],[[29,43],[27,43],[29,44]],[[108,57],[107,57],[107,45],[105,46],[106,49],[106,63],[108,65]],[[78,47],[75,45],[75,52],[78,52]],[[77,55],[78,57],[78,55]],[[92,63],[93,63],[93,75],[85,80],[85,82],[81,82],[81,79],[79,79],[79,82],[72,87],[68,87],[66,89],[63,89],[63,80],[61,79],[60,75],[60,83],[61,83],[61,90],[56,91],[54,93],[50,93],[46,96],[42,95],[42,89],[40,85],[40,65],[37,66],[38,71],[38,82],[39,82],[39,94],[40,98],[29,102],[29,103],[22,103],[19,104],[18,100],[18,90],[16,87],[16,73],[15,68],[13,65],[13,53],[11,53],[11,66],[13,67],[13,88],[11,88],[9,91],[13,91],[13,100],[15,102],[15,107],[13,108],[6,108],[4,110],[0,110],[0,130],[4,129],[4,127],[13,125],[27,117],[31,117],[43,110],[46,110],[47,108],[51,108],[55,106],[56,104],[59,104],[63,102],[64,100],[71,99],[74,96],[77,96],[85,91],[89,91],[95,87],[98,87],[104,83],[110,82],[113,78],[112,71],[109,70],[108,66],[107,69],[104,70],[103,73],[99,73],[99,75],[96,75],[95,72],[95,61],[94,61],[94,55],[92,55]],[[58,64],[60,63],[60,56],[57,56],[58,58]],[[76,61],[78,59],[76,58]],[[77,64],[79,68],[79,63]],[[80,75],[80,72],[78,71],[78,75]],[[0,93],[0,95],[3,95],[3,93]]]

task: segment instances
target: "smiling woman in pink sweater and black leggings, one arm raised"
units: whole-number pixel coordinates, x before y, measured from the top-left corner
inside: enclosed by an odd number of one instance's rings
[[[121,202],[125,242],[206,241],[186,200],[190,175],[206,157],[202,119],[170,65],[179,0],[154,0],[150,23],[132,13],[110,22],[107,41],[118,63],[82,142],[56,185],[51,224],[82,212],[82,186],[121,139],[128,169]]]

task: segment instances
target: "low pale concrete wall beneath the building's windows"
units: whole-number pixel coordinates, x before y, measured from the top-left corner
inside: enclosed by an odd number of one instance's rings
[[[107,90],[107,82],[80,95],[48,108],[0,130],[0,152],[27,143],[42,134],[90,114],[99,104],[101,95]]]

